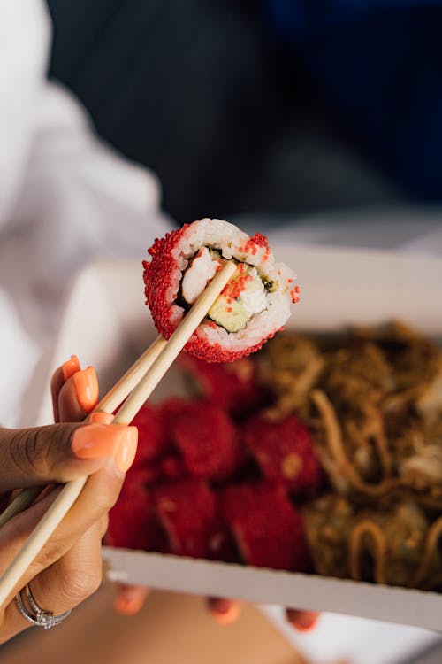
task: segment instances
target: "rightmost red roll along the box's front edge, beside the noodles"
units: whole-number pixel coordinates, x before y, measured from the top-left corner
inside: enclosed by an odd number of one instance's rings
[[[295,572],[309,569],[301,514],[281,485],[226,486],[221,491],[221,513],[244,562]]]

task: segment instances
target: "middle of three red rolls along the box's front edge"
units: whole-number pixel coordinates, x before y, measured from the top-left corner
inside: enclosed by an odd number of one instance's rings
[[[156,514],[167,533],[171,552],[208,558],[210,542],[223,524],[217,496],[202,480],[186,478],[157,484],[153,490]]]

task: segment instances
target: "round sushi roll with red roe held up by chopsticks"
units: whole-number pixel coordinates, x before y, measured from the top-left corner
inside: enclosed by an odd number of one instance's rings
[[[185,351],[210,362],[232,362],[257,351],[282,328],[298,301],[295,274],[271,253],[267,238],[249,237],[233,224],[202,219],[156,240],[144,261],[147,305],[168,339],[197,297],[232,260],[236,272]]]

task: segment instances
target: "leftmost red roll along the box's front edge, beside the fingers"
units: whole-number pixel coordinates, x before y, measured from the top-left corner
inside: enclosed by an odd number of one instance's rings
[[[106,542],[127,549],[166,550],[164,529],[156,517],[144,471],[132,468],[127,474],[118,501],[109,513]]]

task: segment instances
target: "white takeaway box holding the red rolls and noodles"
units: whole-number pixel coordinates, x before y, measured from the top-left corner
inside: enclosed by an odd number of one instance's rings
[[[301,304],[295,305],[287,327],[336,331],[352,323],[371,325],[400,318],[442,338],[442,261],[305,246],[277,247],[275,254],[294,267],[301,285]],[[133,259],[98,262],[83,271],[72,288],[52,367],[75,352],[83,364],[96,367],[106,390],[155,336],[144,305],[141,263]],[[172,368],[152,398],[177,390],[179,375]],[[50,417],[48,394],[36,423],[47,423]],[[442,595],[438,593],[122,549],[105,548],[103,555],[113,578],[125,583],[442,630]],[[432,638],[427,632],[414,631],[413,643],[421,645]],[[409,629],[405,633],[411,634]]]

